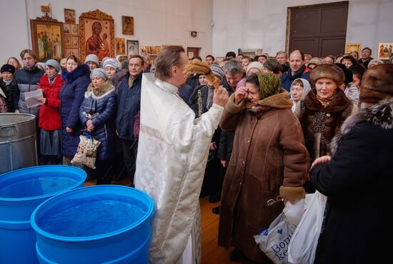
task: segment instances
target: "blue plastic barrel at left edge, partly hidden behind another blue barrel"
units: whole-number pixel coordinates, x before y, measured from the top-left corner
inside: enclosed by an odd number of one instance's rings
[[[35,166],[0,175],[0,263],[39,263],[30,217],[44,200],[84,186],[72,166]]]

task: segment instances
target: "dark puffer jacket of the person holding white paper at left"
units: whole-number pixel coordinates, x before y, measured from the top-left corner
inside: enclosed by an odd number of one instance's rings
[[[16,71],[14,79],[18,84],[19,88],[19,101],[18,109],[20,113],[31,113],[35,116],[39,116],[39,106],[27,108],[24,93],[27,91],[36,91],[39,80],[44,75],[45,71],[38,68],[36,65],[33,68],[21,68]]]

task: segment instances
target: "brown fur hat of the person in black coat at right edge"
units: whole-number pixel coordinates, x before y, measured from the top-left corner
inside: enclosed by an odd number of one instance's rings
[[[377,103],[393,97],[393,64],[379,64],[364,72],[359,102]]]

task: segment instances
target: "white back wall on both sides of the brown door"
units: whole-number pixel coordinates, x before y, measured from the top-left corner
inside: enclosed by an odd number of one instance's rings
[[[263,49],[270,55],[285,50],[287,8],[332,0],[214,0],[213,54],[237,49]],[[369,46],[377,56],[378,42],[393,42],[393,0],[350,0],[347,43]]]

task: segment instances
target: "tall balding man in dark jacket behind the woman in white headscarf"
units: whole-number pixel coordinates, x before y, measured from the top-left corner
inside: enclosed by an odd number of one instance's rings
[[[302,51],[292,51],[292,54],[289,55],[289,69],[282,73],[280,77],[282,87],[290,92],[292,82],[295,79],[304,78],[309,81],[309,71],[311,70],[304,64],[304,54]]]

